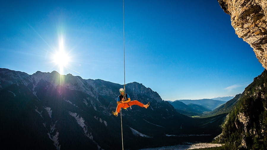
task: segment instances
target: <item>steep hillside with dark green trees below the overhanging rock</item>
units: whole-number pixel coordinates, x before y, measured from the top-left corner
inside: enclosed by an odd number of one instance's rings
[[[236,149],[267,149],[267,71],[245,88],[217,140]]]

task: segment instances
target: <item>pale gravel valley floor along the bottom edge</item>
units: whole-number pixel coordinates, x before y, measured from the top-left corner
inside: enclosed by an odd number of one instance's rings
[[[187,149],[200,149],[209,147],[220,147],[222,144],[212,144],[212,143],[197,143],[197,144],[187,144],[187,145],[175,145],[175,146],[163,146],[158,148],[146,148],[139,150],[187,150]]]

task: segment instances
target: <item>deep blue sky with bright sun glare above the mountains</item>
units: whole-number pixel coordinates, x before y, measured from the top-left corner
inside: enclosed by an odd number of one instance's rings
[[[264,70],[217,0],[125,0],[124,9],[125,82],[164,100],[235,96]],[[123,0],[1,0],[0,22],[1,68],[124,84]]]

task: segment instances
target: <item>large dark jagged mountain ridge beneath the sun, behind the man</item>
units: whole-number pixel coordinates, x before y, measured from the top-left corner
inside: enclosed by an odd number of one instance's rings
[[[58,72],[25,72],[0,68],[1,141],[5,148],[27,149],[118,149],[121,147],[121,120],[111,114],[122,85],[104,80],[84,80]],[[173,144],[169,135],[203,134],[212,139],[220,133],[224,116],[195,120],[179,114],[158,93],[139,83],[128,83],[131,99],[151,105],[122,110],[125,148]],[[210,122],[210,120],[217,122]],[[209,125],[217,128],[209,130]],[[183,128],[181,129],[182,126]],[[142,136],[141,136],[142,135]],[[150,139],[153,140],[150,140]],[[196,138],[197,139],[197,138]],[[176,141],[177,143],[177,141]]]

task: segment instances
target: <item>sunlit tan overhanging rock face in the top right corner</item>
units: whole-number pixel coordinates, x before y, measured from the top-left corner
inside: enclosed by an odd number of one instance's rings
[[[218,0],[239,38],[249,43],[259,62],[267,69],[267,1]]]

